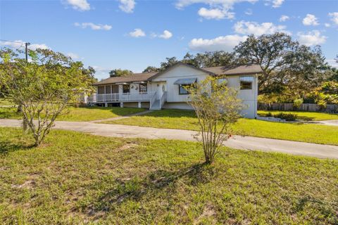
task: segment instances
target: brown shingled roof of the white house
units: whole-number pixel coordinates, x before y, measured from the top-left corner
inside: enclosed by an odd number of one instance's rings
[[[94,85],[101,84],[116,84],[116,83],[129,83],[129,82],[146,82],[150,81],[152,78],[157,77],[158,75],[163,74],[164,72],[175,68],[177,65],[187,65],[185,63],[177,63],[167,70],[161,72],[144,72],[144,73],[134,73],[125,77],[109,77],[103,79],[100,82],[94,83]],[[187,65],[191,68],[195,68],[192,65]],[[218,66],[213,68],[195,68],[196,70],[202,70],[210,75],[254,75],[260,74],[263,72],[261,66],[258,64],[248,64],[248,65],[233,65],[229,67]]]

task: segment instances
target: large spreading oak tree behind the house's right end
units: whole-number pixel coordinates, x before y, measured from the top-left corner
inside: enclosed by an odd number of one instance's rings
[[[301,45],[288,34],[251,35],[234,51],[246,63],[261,65],[259,94],[286,94],[293,101],[302,98],[329,75],[324,70],[325,58],[320,46]]]

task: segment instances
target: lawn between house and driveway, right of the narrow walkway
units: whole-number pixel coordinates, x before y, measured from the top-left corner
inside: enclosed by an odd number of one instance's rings
[[[104,123],[170,129],[199,129],[198,120],[192,110],[158,110],[146,115]],[[288,124],[240,119],[234,125],[234,134],[338,145],[338,127],[320,124]]]

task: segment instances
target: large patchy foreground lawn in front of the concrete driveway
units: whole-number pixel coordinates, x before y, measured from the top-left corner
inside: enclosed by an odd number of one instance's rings
[[[0,127],[0,224],[337,224],[338,160]]]

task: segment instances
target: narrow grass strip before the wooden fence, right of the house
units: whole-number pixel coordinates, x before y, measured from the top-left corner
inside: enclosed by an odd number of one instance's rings
[[[272,113],[273,115],[277,113],[292,113],[292,114],[298,115],[299,120],[305,120],[305,121],[338,120],[338,114],[301,112],[301,111],[258,110],[258,115],[260,116],[266,116],[268,113]]]

